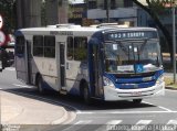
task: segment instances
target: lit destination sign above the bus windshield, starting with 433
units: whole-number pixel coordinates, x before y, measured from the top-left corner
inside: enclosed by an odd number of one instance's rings
[[[128,32],[113,32],[105,34],[105,41],[118,41],[128,39],[157,39],[155,31],[128,31]]]

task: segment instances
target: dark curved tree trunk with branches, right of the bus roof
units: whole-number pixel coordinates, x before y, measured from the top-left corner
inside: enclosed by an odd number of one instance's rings
[[[133,0],[134,3],[136,3],[138,7],[144,9],[155,21],[156,25],[162,30],[167,43],[168,48],[170,53],[170,62],[173,64],[173,36],[170,35],[169,31],[166,29],[166,26],[162,23],[159,20],[159,12],[163,12],[165,9],[166,3],[174,3],[175,0],[146,0],[147,6],[144,6],[138,0]]]

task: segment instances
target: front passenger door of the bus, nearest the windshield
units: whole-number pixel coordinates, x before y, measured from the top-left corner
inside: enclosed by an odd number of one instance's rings
[[[90,79],[93,97],[102,97],[101,55],[97,44],[90,44]]]

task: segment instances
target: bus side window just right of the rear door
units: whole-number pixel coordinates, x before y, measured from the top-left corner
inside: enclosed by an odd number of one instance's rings
[[[33,55],[43,57],[43,36],[42,35],[34,35],[33,36]]]

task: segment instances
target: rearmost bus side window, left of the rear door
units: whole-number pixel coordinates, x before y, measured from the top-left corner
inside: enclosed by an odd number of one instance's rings
[[[18,36],[15,40],[15,54],[23,55],[24,54],[24,36]]]

